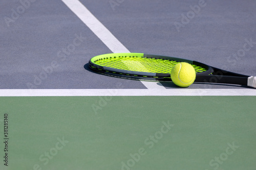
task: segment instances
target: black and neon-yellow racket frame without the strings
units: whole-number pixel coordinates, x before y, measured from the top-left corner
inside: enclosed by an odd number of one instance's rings
[[[115,57],[139,56],[139,57],[143,57],[143,58],[174,60],[177,62],[187,62],[189,64],[194,64],[194,65],[201,66],[201,67],[205,68],[206,71],[197,72],[195,82],[248,85],[248,80],[249,80],[248,78],[250,77],[250,76],[246,76],[246,75],[237,74],[235,72],[230,72],[227,70],[212,67],[207,64],[198,62],[198,61],[191,61],[191,60],[187,60],[187,59],[183,59],[183,58],[168,57],[168,56],[161,56],[161,55],[151,55],[151,54],[143,54],[143,53],[112,53],[112,54],[104,54],[104,55],[95,56],[90,59],[89,67],[92,70],[95,70],[102,74],[116,76],[116,77],[140,79],[140,80],[172,81],[172,79],[170,78],[170,74],[116,69],[116,68],[112,68],[112,67],[101,66],[94,62],[95,60],[98,60],[101,58],[106,58],[110,55],[114,55]]]

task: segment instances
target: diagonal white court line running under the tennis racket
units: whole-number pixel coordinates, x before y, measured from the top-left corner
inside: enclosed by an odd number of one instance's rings
[[[78,0],[62,0],[71,11],[73,11],[83,23],[106,45],[113,53],[130,53],[129,50],[108,30],[103,24]],[[159,82],[141,83],[148,89],[165,89]]]

